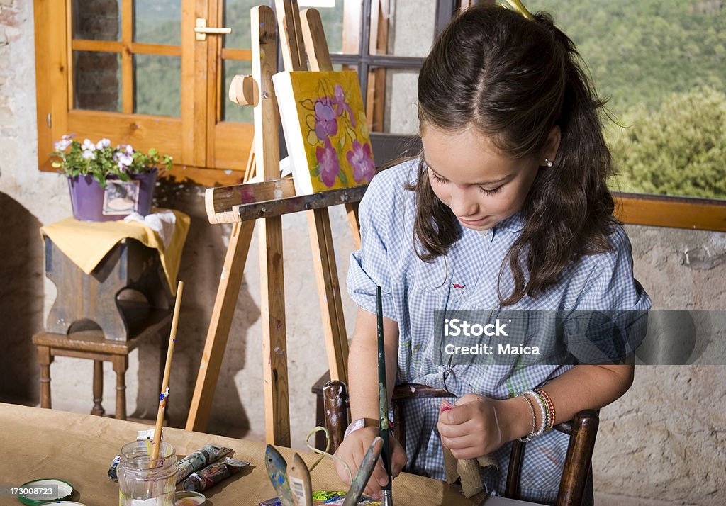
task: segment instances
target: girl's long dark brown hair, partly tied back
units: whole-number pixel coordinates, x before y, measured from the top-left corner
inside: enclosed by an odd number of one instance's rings
[[[553,126],[561,139],[552,168],[540,168],[522,208],[525,225],[509,263],[510,306],[558,282],[579,256],[611,249],[619,222],[606,186],[610,151],[603,138],[597,97],[579,65],[574,43],[544,12],[527,20],[502,7],[471,7],[441,33],[418,81],[421,128],[456,132],[477,128],[513,158],[539,155]],[[420,161],[412,185],[418,203],[414,231],[423,261],[445,255],[460,224],[433,193]],[[529,274],[527,276],[525,274]]]

